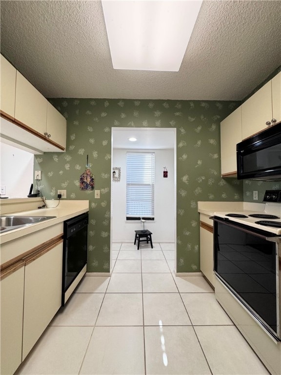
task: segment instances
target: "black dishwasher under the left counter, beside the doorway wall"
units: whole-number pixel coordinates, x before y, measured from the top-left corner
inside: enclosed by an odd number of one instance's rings
[[[63,223],[62,306],[86,273],[88,222],[83,213]]]

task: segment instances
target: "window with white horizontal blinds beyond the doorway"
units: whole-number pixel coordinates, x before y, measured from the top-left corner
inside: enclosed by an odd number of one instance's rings
[[[154,220],[154,152],[127,152],[127,220]]]

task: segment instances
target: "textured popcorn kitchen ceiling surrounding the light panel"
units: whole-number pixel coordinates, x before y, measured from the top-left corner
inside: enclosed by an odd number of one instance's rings
[[[281,65],[281,1],[203,1],[179,72],[113,69],[100,1],[0,11],[1,53],[47,98],[241,100]]]

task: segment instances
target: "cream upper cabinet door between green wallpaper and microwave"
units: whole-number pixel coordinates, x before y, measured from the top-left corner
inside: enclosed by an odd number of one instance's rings
[[[241,106],[221,122],[221,174],[236,174],[236,145],[242,140]]]

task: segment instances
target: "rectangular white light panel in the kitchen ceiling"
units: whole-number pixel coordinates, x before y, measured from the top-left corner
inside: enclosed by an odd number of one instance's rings
[[[202,1],[102,1],[114,69],[177,72]]]

